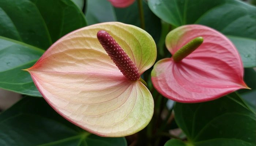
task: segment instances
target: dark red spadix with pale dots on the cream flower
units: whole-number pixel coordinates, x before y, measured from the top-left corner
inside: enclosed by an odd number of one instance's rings
[[[100,30],[97,33],[97,38],[124,76],[129,80],[139,80],[138,68],[112,36],[108,32]]]

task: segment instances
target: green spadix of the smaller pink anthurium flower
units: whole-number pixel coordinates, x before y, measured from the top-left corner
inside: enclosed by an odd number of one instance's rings
[[[187,57],[189,54],[191,54],[193,51],[195,51],[202,43],[204,39],[202,37],[197,37],[193,39],[192,41],[188,42],[186,45],[181,47],[176,53],[173,55],[173,61],[179,62],[185,57]]]

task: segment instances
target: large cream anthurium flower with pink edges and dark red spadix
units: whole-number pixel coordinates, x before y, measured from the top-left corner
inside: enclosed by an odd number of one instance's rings
[[[146,31],[109,22],[65,35],[27,71],[64,118],[100,136],[122,137],[152,118],[154,101],[139,78],[155,59],[156,45]]]

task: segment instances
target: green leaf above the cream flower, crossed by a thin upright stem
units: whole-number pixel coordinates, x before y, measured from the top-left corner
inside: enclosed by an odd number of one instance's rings
[[[151,12],[145,1],[142,4],[146,31],[157,43],[161,35],[161,20]],[[86,18],[89,24],[118,21],[140,27],[137,2],[127,8],[114,8],[106,0],[89,0]]]

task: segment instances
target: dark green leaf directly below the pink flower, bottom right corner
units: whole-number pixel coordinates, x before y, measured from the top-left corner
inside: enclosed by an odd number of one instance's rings
[[[255,114],[236,93],[204,103],[176,103],[174,112],[190,145],[255,145]]]

